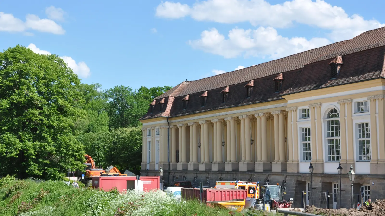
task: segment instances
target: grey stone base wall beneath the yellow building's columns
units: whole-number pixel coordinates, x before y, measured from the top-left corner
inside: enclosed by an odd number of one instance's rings
[[[141,175],[158,176],[159,171],[154,170],[142,170]],[[173,181],[174,176],[174,181]],[[285,184],[286,194],[284,198],[289,200],[293,198],[293,207],[302,208],[303,203],[306,201],[306,195],[303,191],[306,191],[306,182],[311,181],[311,175],[305,173],[273,173],[273,172],[239,172],[239,171],[164,171],[163,180],[170,182],[183,181],[183,176],[186,176],[186,181],[191,181],[192,186],[199,186],[200,182],[203,182],[204,186],[214,187],[215,182],[219,181],[219,178],[223,178],[223,181],[233,181],[236,178],[238,181],[267,181],[269,184],[280,185]],[[194,182],[194,177],[197,177],[197,181]],[[209,178],[209,183],[206,182],[206,178]],[[284,180],[286,182],[284,183]],[[373,185],[374,182],[374,185]],[[340,184],[340,176],[338,174],[313,174],[313,204],[320,208],[333,208],[333,183]],[[359,175],[355,176],[355,183],[353,184],[353,194],[355,204],[361,201],[360,187],[363,184],[370,185],[370,198],[372,201],[376,199],[385,199],[385,176],[383,175]],[[351,184],[347,174],[341,175],[341,199],[342,208],[351,208],[352,206],[352,192]],[[338,186],[339,187],[339,186]],[[311,192],[308,193],[309,201],[311,204]],[[305,196],[305,197],[304,197]],[[335,206],[340,208],[340,194],[337,194],[337,203]]]

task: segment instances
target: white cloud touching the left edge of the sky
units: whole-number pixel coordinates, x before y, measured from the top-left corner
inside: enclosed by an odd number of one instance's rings
[[[62,35],[65,30],[53,20],[40,19],[37,15],[27,14],[25,22],[13,17],[11,13],[0,12],[0,31],[2,32],[25,32],[28,29],[39,32],[48,32]],[[28,32],[26,35],[30,36]]]

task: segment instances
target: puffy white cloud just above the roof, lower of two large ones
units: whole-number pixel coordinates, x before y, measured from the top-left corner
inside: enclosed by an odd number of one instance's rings
[[[211,28],[203,31],[200,39],[189,41],[192,48],[224,58],[235,58],[240,55],[280,58],[329,43],[331,42],[326,38],[307,40],[301,37],[282,37],[272,27],[259,27],[255,30],[233,28],[229,31],[227,39],[216,28]]]

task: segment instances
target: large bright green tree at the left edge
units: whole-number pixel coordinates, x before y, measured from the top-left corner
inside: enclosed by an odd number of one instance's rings
[[[80,80],[62,58],[17,45],[0,53],[0,175],[57,179],[83,169],[74,122]]]

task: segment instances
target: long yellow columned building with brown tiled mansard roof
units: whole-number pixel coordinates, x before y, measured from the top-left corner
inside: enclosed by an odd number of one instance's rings
[[[184,81],[155,98],[140,119],[141,174],[158,175],[162,167],[166,182],[209,186],[269,181],[285,184],[295,205],[337,208],[351,206],[352,166],[354,194],[363,186],[364,199],[385,198],[384,60],[385,28],[379,28]]]

